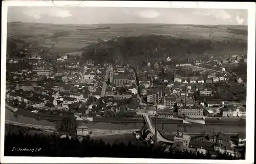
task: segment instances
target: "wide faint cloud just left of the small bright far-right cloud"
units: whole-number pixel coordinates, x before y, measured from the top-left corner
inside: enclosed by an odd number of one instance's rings
[[[207,11],[196,11],[194,12],[198,15],[204,15],[204,16],[213,16],[216,18],[222,18],[222,19],[229,19],[231,18],[231,15],[228,14],[225,10],[207,10]]]

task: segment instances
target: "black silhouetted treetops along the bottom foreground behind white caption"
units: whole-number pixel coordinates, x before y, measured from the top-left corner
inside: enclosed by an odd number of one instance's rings
[[[22,141],[22,142],[20,142]],[[40,152],[16,152],[16,148],[41,148]],[[163,151],[162,147],[139,146],[114,143],[106,144],[103,140],[93,140],[90,137],[84,137],[82,142],[77,138],[59,138],[53,134],[49,136],[42,135],[24,135],[6,134],[5,135],[5,156],[51,156],[51,157],[123,157],[123,158],[169,158],[169,159],[237,159],[227,154],[219,153],[216,158],[212,158],[209,153],[192,152],[173,152]],[[244,159],[244,156],[241,157]]]

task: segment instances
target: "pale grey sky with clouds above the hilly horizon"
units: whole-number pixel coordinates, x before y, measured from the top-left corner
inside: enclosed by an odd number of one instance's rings
[[[7,19],[47,24],[247,25],[247,10],[11,6]]]

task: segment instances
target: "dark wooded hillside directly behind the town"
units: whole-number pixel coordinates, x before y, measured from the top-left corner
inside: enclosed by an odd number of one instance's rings
[[[111,62],[118,59],[129,60],[134,57],[162,57],[184,56],[196,54],[214,54],[221,52],[242,52],[247,48],[247,42],[225,39],[182,39],[170,36],[140,36],[140,37],[120,37],[117,41],[110,40],[95,51],[96,45],[91,46],[83,52],[81,62],[88,59],[95,60],[96,63]],[[157,50],[156,50],[157,49]]]

